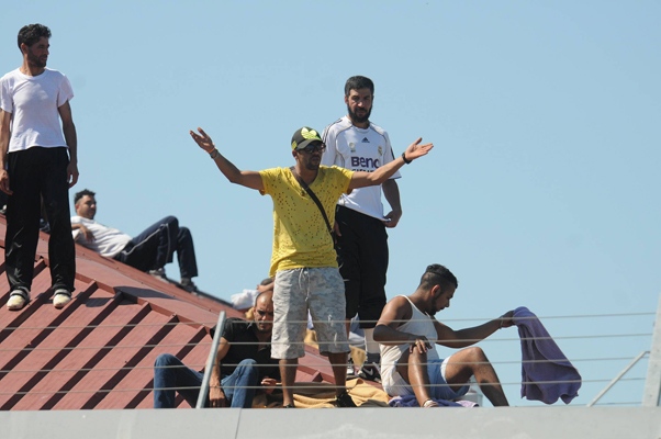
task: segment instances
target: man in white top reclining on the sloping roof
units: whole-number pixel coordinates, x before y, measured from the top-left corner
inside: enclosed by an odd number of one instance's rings
[[[148,271],[166,279],[165,264],[172,261],[175,250],[179,260],[181,286],[189,292],[198,291],[192,278],[198,275],[198,262],[193,237],[187,227],[179,227],[175,216],[166,216],[147,227],[135,238],[94,221],[96,193],[82,190],[74,196],[76,216],[71,216],[74,239],[103,257]]]

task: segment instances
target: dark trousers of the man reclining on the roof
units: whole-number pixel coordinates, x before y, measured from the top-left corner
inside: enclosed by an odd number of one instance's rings
[[[175,216],[166,216],[147,227],[114,257],[142,271],[158,270],[173,260],[177,251],[181,278],[198,275],[193,237],[187,227],[179,227]]]

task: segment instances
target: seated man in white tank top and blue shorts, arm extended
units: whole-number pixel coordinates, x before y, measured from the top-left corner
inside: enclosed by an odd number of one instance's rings
[[[495,370],[481,348],[461,349],[441,360],[433,344],[464,348],[514,325],[513,311],[480,326],[455,330],[434,318],[450,306],[458,282],[444,266],[425,270],[415,292],[388,302],[377,323],[383,390],[391,396],[415,395],[421,407],[437,407],[468,392],[471,376],[494,406],[509,405]]]

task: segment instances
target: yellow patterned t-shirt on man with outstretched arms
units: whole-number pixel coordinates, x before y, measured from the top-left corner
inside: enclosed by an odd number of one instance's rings
[[[337,267],[333,239],[324,217],[289,168],[259,171],[262,195],[273,200],[273,251],[270,275],[295,268]],[[335,204],[349,189],[354,171],[336,166],[320,166],[310,189],[320,199],[330,226]]]

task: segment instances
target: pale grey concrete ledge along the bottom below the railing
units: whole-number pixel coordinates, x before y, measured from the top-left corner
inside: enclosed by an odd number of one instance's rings
[[[661,407],[52,410],[0,413],[3,439],[660,438]]]

